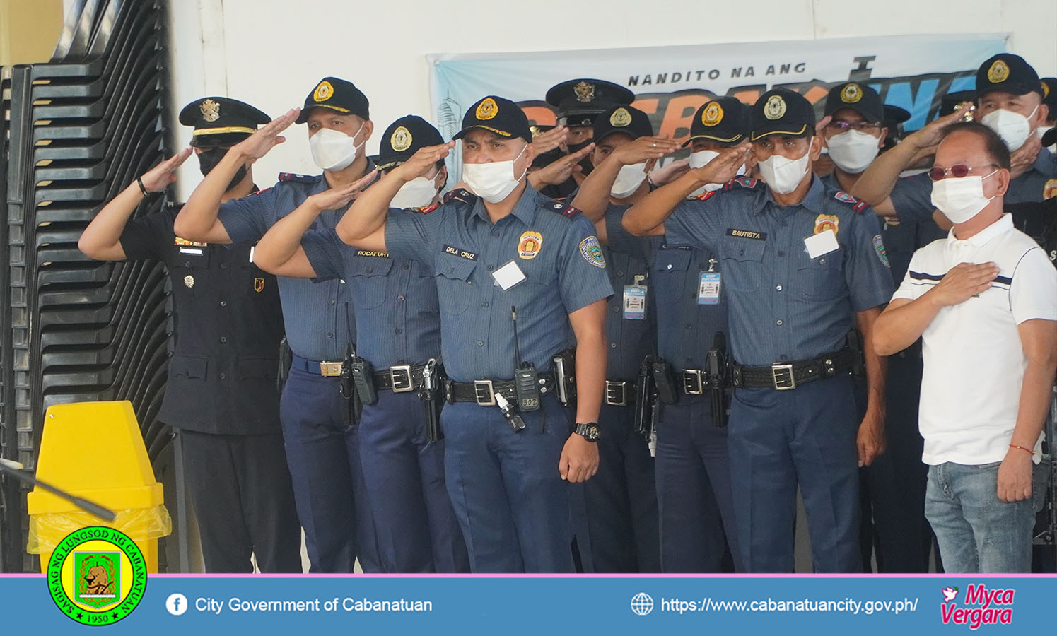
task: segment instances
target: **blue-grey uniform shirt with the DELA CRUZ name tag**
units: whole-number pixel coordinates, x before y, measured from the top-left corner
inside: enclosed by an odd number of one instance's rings
[[[452,190],[428,214],[390,210],[386,245],[437,273],[444,368],[460,382],[514,375],[511,306],[521,357],[540,372],[575,341],[568,314],[612,293],[594,226],[574,208],[525,187],[493,224],[468,190]],[[493,273],[515,263],[525,280],[502,291]]]

